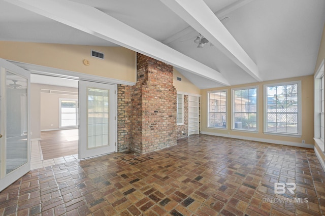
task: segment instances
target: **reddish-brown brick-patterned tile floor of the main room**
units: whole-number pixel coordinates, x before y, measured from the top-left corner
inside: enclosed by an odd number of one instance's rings
[[[191,135],[32,170],[0,193],[0,215],[321,215],[324,183],[312,149]]]

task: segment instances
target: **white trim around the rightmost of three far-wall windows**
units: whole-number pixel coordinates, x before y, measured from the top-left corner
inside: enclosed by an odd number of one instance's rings
[[[281,86],[281,85],[290,85],[290,84],[298,84],[298,133],[279,133],[279,132],[269,132],[267,131],[267,87],[270,86]],[[272,84],[265,84],[264,87],[264,109],[263,109],[263,115],[264,115],[264,134],[270,134],[270,135],[278,135],[278,136],[290,136],[290,137],[301,137],[302,134],[302,91],[301,91],[301,81],[291,81],[291,82],[283,82],[283,83],[272,83]]]

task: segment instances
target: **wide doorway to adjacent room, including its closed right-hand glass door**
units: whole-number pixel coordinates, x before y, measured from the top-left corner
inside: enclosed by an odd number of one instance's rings
[[[39,134],[33,134],[36,140],[31,145],[31,169],[116,151],[116,85],[43,74],[31,76],[31,96],[40,98],[38,103],[31,102],[31,116],[39,115],[40,118],[39,123],[35,121],[31,127],[33,131],[40,131]],[[74,82],[75,86],[62,89],[62,84],[67,82],[67,85]],[[50,100],[53,97],[55,99]],[[57,108],[58,111],[55,111]],[[67,145],[73,141],[74,147],[78,146],[69,151]],[[58,151],[60,148],[63,149]],[[73,151],[77,149],[78,153]],[[57,155],[59,152],[64,155]]]

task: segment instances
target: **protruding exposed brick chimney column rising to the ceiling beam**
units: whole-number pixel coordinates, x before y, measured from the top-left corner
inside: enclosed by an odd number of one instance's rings
[[[137,83],[132,94],[131,149],[145,154],[176,145],[173,66],[137,54]]]

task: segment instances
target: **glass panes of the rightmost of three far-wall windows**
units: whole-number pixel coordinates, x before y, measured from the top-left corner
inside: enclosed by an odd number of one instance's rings
[[[301,82],[265,85],[265,131],[286,135],[301,134]]]

